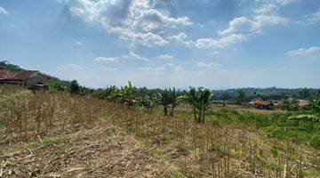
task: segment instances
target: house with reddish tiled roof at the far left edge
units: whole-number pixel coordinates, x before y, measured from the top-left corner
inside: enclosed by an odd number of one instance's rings
[[[28,88],[48,88],[52,77],[36,70],[9,71],[0,67],[0,84],[23,85]]]

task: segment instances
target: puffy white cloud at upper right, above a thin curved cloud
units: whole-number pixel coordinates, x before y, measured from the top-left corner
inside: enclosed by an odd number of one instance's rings
[[[253,20],[246,17],[235,18],[229,21],[229,28],[218,31],[219,35],[226,36],[231,33],[259,33],[262,28],[276,25],[286,25],[288,20],[276,15],[257,15]]]

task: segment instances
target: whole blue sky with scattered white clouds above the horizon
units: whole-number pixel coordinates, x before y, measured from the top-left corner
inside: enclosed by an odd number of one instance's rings
[[[94,88],[320,87],[320,0],[0,0],[0,61]]]

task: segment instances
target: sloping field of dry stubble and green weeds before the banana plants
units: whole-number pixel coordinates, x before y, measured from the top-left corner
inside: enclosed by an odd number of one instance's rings
[[[0,86],[0,176],[319,177],[320,124],[294,113],[163,117],[68,93]]]

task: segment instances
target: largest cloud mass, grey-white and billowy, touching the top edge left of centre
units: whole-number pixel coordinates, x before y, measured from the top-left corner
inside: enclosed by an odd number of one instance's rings
[[[172,18],[170,13],[156,9],[152,0],[59,1],[68,4],[74,16],[99,23],[108,33],[133,44],[164,45],[167,42],[155,31],[192,25],[188,17]]]

